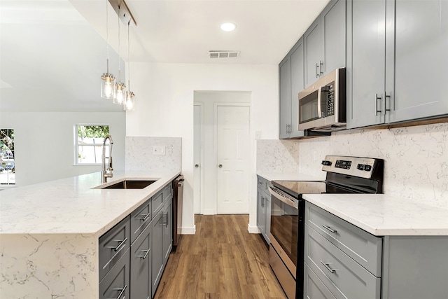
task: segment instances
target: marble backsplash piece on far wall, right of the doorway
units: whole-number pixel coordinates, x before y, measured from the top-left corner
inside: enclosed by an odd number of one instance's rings
[[[293,140],[257,140],[257,172],[298,172],[299,144]]]

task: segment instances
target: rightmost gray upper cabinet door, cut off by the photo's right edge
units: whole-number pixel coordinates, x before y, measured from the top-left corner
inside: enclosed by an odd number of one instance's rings
[[[393,36],[388,38],[386,50],[395,54],[395,69],[393,61],[386,61],[386,92],[394,85],[395,92],[387,103],[386,123],[447,114],[448,1],[390,1],[392,13],[394,2],[395,44]]]

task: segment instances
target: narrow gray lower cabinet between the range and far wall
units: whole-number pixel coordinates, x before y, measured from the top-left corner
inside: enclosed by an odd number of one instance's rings
[[[271,182],[263,179],[261,176],[257,176],[257,182],[257,227],[262,237],[269,244],[271,234],[271,196],[267,188],[271,185]]]

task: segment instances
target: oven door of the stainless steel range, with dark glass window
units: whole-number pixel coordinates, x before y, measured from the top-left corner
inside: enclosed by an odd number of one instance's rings
[[[299,200],[275,186],[271,193],[271,244],[296,278],[299,235]]]

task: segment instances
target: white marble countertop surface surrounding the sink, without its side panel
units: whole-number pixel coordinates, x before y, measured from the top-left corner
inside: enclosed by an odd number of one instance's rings
[[[0,191],[0,234],[83,234],[99,237],[157,193],[180,172],[114,172],[123,179],[158,179],[144,189],[94,189],[95,172]]]

